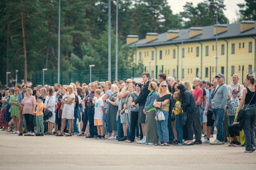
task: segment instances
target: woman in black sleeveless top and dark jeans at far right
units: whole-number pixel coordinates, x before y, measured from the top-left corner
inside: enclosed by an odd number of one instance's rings
[[[245,153],[251,153],[256,150],[256,141],[255,141],[255,133],[254,126],[256,122],[256,87],[255,87],[255,78],[253,75],[247,75],[244,84],[246,88],[243,90],[242,99],[239,103],[237,112],[241,110],[244,105],[245,115],[243,117],[243,130],[245,137]]]

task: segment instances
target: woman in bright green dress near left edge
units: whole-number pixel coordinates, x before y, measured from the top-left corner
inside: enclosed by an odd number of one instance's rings
[[[19,94],[20,90],[18,87],[14,88],[14,95],[11,96],[10,100],[9,100],[9,104],[12,105],[11,107],[11,117],[12,120],[14,121],[14,128],[15,131],[13,131],[12,133],[17,133],[19,134],[19,130],[18,130],[18,126],[19,126],[19,104],[18,104],[18,94]]]

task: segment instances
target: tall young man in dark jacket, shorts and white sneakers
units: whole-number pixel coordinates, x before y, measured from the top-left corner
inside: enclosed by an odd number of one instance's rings
[[[150,74],[148,72],[143,72],[142,74],[142,80],[144,82],[144,85],[142,87],[142,90],[140,91],[140,95],[138,99],[135,100],[135,102],[131,103],[131,106],[134,106],[136,104],[139,104],[139,117],[138,117],[138,123],[141,124],[142,130],[140,131],[140,141],[137,143],[140,144],[146,144],[146,115],[143,112],[143,109],[145,107],[145,103],[147,100],[147,96],[150,93],[150,90],[148,90],[148,85],[150,83]],[[142,138],[143,137],[143,138]]]

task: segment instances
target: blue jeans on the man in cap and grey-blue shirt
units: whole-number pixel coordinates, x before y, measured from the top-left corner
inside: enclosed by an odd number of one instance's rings
[[[224,142],[223,116],[225,110],[223,108],[215,108],[212,110],[217,125],[217,139]]]

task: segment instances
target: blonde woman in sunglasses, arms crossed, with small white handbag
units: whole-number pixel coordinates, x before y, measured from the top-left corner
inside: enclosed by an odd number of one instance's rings
[[[158,90],[157,98],[155,99],[153,105],[158,108],[158,112],[163,112],[165,120],[158,120],[157,118],[157,134],[159,137],[159,142],[156,145],[167,146],[169,144],[169,131],[168,131],[168,116],[170,107],[171,93],[168,90],[168,85],[163,81]]]

